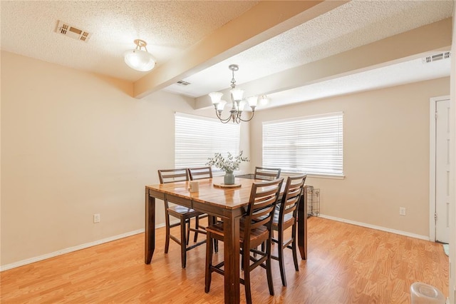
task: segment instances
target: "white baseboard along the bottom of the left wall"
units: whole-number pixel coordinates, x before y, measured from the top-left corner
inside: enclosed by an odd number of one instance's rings
[[[163,226],[165,226],[165,224],[157,225],[156,228],[160,228],[160,227],[163,227]],[[110,236],[109,238],[103,238],[102,240],[95,240],[95,241],[90,242],[90,243],[85,243],[85,244],[77,245],[77,246],[74,246],[74,247],[65,248],[65,249],[62,249],[62,250],[57,250],[57,251],[54,251],[53,253],[46,253],[44,255],[39,255],[39,256],[36,256],[36,257],[33,257],[33,258],[27,258],[26,260],[19,260],[18,262],[15,262],[15,263],[11,263],[11,264],[6,264],[6,265],[0,266],[0,272],[4,271],[4,270],[9,270],[11,268],[16,268],[16,267],[24,266],[24,265],[31,264],[31,263],[34,263],[34,262],[38,262],[38,260],[46,260],[47,258],[53,258],[53,257],[55,257],[57,255],[63,255],[65,253],[71,253],[71,252],[76,251],[76,250],[81,250],[81,249],[89,248],[89,247],[92,247],[92,246],[95,246],[95,245],[108,243],[108,242],[110,242],[112,240],[118,240],[120,238],[126,238],[128,236],[139,234],[139,233],[143,233],[143,232],[144,232],[144,229],[138,229],[138,230],[130,231],[130,232],[127,232],[127,233],[122,233],[122,234],[119,234],[119,235]]]

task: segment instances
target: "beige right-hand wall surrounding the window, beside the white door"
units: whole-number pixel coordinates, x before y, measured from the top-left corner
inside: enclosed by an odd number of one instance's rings
[[[447,77],[259,111],[251,145],[261,147],[263,121],[343,111],[345,178],[306,181],[321,189],[321,213],[429,236],[429,98],[449,93]]]

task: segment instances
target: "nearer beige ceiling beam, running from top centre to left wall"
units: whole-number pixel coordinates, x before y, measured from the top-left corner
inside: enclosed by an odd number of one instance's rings
[[[133,96],[154,91],[271,39],[348,1],[260,1],[237,19],[134,83]]]

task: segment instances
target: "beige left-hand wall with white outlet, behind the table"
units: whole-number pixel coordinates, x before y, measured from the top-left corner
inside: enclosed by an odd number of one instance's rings
[[[174,167],[174,113],[199,112],[132,90],[1,52],[1,265],[144,228],[144,186]]]

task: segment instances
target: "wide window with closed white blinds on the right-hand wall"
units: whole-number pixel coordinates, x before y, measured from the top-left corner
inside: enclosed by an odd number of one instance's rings
[[[263,166],[343,176],[343,113],[264,122]]]

